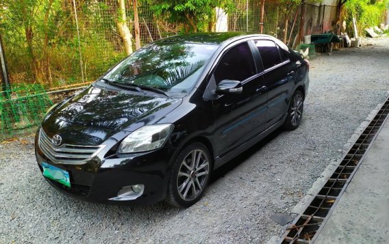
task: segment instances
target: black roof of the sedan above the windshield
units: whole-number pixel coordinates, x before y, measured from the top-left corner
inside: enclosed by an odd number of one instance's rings
[[[228,40],[238,40],[247,37],[266,37],[268,35],[260,35],[247,32],[210,32],[210,33],[190,33],[185,35],[171,36],[163,38],[155,43],[198,43],[198,44],[215,44],[220,45]]]

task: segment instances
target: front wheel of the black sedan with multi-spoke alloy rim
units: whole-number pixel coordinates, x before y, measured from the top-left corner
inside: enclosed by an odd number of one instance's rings
[[[210,152],[204,144],[195,142],[186,146],[171,170],[166,202],[187,208],[199,201],[210,180],[211,166]]]

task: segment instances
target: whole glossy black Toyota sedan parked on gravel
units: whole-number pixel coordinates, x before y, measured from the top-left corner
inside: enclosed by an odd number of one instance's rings
[[[213,170],[299,126],[308,69],[271,36],[158,40],[49,109],[36,134],[40,171],[85,200],[190,206]]]

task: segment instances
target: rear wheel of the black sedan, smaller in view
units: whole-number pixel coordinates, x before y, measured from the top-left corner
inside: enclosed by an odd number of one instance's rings
[[[299,127],[303,118],[304,96],[300,90],[294,92],[288,108],[288,116],[284,122],[284,128],[293,131]]]

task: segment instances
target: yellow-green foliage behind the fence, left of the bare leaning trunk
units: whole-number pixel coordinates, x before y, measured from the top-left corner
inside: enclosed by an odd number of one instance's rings
[[[116,34],[117,3],[76,1],[76,4],[82,69],[86,81],[92,81],[125,55]],[[106,31],[99,31],[98,27]],[[0,30],[11,83],[38,82],[55,87],[81,82],[73,1],[0,3]]]

